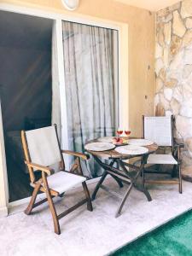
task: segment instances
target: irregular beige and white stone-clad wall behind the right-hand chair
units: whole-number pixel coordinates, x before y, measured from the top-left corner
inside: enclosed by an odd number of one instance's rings
[[[192,0],[157,13],[155,73],[155,113],[175,115],[183,165],[192,166]]]

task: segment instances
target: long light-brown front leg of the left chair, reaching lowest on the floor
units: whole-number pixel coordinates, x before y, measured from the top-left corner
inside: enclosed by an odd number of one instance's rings
[[[61,230],[60,230],[59,219],[58,219],[57,214],[56,214],[55,205],[54,205],[52,196],[50,195],[50,190],[49,190],[47,178],[45,177],[44,173],[43,173],[43,181],[44,181],[45,193],[47,195],[47,199],[48,199],[48,203],[49,203],[50,212],[51,212],[53,222],[54,222],[54,230],[55,230],[55,233],[57,235],[60,235]]]

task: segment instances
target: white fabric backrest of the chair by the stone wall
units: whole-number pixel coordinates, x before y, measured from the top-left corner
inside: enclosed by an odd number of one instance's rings
[[[143,116],[143,137],[159,146],[173,145],[173,116]]]

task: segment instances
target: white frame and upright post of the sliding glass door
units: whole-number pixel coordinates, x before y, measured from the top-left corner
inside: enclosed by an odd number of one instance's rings
[[[21,15],[32,15],[42,17],[56,22],[57,50],[58,50],[58,71],[61,90],[61,120],[62,124],[66,124],[63,128],[63,145],[62,148],[68,148],[67,141],[67,106],[65,94],[65,77],[64,77],[64,61],[62,47],[62,20],[82,23],[91,26],[102,26],[118,30],[119,32],[119,126],[123,129],[129,127],[129,79],[128,79],[128,24],[116,22],[113,20],[104,20],[88,15],[77,15],[72,13],[57,14],[54,12],[43,11],[41,9],[31,9],[22,6],[0,3],[1,11],[9,11]],[[7,216],[9,207],[14,207],[26,203],[30,198],[9,203],[9,187],[7,177],[7,167],[3,140],[3,122],[0,108],[0,217]]]

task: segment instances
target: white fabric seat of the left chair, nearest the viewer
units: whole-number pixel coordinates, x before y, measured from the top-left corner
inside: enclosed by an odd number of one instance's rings
[[[66,192],[68,189],[72,189],[79,183],[83,183],[86,177],[81,177],[73,173],[56,172],[53,175],[47,177],[49,189],[53,189],[60,194]]]

